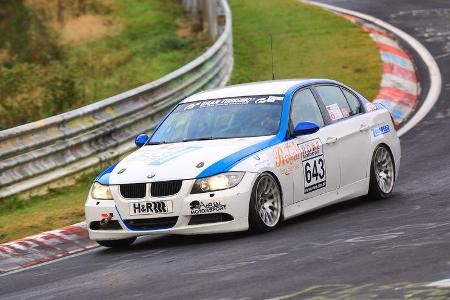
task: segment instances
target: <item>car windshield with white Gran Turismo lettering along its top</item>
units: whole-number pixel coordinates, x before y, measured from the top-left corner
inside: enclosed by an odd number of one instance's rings
[[[246,96],[179,104],[148,144],[273,135],[283,96]]]

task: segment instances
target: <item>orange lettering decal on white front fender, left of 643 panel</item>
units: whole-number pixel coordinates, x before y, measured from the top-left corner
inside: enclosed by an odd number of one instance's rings
[[[299,168],[300,151],[295,142],[289,141],[273,149],[275,165],[284,175],[292,173]]]

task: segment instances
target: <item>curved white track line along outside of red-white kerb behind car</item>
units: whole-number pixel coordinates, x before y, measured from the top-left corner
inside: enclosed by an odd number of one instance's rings
[[[403,125],[402,128],[400,128],[400,130],[398,131],[398,135],[399,136],[404,135],[406,132],[408,132],[414,126],[416,126],[420,121],[422,121],[422,119],[430,112],[436,101],[439,99],[439,95],[441,94],[442,88],[442,77],[439,67],[436,61],[434,60],[433,56],[418,40],[416,40],[415,38],[404,32],[403,30],[367,14],[315,1],[309,0],[298,0],[298,1],[320,6],[322,8],[337,11],[340,13],[349,14],[358,17],[360,19],[372,22],[382,27],[383,29],[386,29],[387,31],[393,33],[394,35],[400,37],[403,41],[408,43],[414,50],[416,50],[416,52],[419,54],[419,56],[422,58],[425,65],[427,66],[428,71],[430,72],[430,89],[428,91],[427,96],[425,97],[425,100],[423,101],[422,106],[413,115],[413,117],[409,119],[406,122],[406,124]]]

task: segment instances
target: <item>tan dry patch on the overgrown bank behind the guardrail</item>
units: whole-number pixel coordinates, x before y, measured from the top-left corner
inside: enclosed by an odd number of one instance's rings
[[[93,41],[117,31],[117,22],[100,15],[83,15],[70,19],[59,30],[61,42],[65,45]]]

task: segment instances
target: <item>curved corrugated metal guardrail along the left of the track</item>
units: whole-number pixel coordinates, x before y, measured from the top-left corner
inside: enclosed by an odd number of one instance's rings
[[[231,11],[217,0],[221,32],[200,57],[122,94],[37,122],[0,131],[0,198],[35,188],[134,147],[174,104],[201,90],[224,86],[233,68]]]

